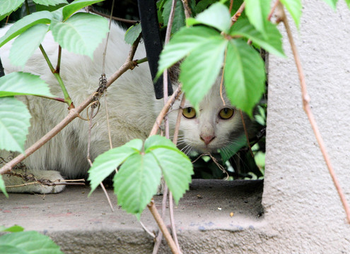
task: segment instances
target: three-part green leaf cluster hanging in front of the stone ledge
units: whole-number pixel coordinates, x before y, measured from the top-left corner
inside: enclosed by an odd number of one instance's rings
[[[138,218],[156,195],[162,175],[178,202],[193,174],[192,163],[183,152],[167,138],[152,135],[144,143],[135,139],[99,155],[88,171],[91,193],[117,167],[113,185],[118,204]]]

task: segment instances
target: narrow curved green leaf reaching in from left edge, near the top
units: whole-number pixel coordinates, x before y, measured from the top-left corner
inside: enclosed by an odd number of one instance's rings
[[[12,40],[17,35],[21,35],[22,32],[31,28],[36,24],[49,24],[51,23],[52,13],[49,11],[38,11],[32,13],[24,18],[21,18],[16,23],[11,25],[6,34],[0,38],[0,47],[2,47],[6,42]]]

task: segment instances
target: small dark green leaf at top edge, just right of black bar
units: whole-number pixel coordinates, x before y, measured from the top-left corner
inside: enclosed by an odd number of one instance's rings
[[[164,11],[162,16],[163,16],[165,26],[168,25],[172,4],[173,4],[173,0],[167,0],[165,1],[165,4],[164,4]],[[173,26],[171,27],[171,32],[174,33],[180,30],[180,28],[182,28],[183,26],[185,26],[184,7],[182,5],[182,1],[176,1],[175,15],[173,20]]]

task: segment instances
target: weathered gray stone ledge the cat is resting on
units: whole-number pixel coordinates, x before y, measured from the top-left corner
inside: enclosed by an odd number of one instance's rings
[[[259,237],[262,186],[262,181],[194,179],[174,211],[184,253],[231,252],[235,246],[241,251],[244,241]],[[9,199],[1,195],[1,224],[18,224],[27,231],[47,234],[64,253],[151,253],[153,239],[136,217],[117,207],[112,190],[108,193],[115,212],[102,190],[87,198],[89,191],[88,187],[69,186],[57,195],[10,193]],[[159,209],[161,199],[155,197]],[[157,230],[148,210],[141,221],[151,231]],[[160,253],[169,252],[163,245]]]

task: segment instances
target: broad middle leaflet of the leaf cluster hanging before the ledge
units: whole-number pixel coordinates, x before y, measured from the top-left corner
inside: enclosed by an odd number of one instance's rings
[[[118,205],[140,219],[141,212],[161,183],[161,169],[153,155],[136,153],[120,167],[114,178]]]

